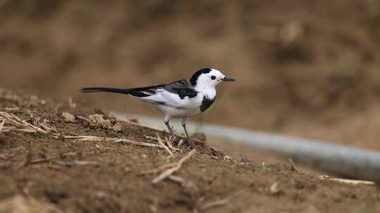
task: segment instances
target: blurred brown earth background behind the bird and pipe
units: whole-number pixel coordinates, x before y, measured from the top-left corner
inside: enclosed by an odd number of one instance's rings
[[[0,0],[0,86],[128,114],[160,116],[137,87],[213,67],[208,123],[380,150],[376,0]]]

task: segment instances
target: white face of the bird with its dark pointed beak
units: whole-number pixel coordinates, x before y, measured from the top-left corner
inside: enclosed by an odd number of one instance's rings
[[[218,83],[222,81],[235,81],[233,78],[226,78],[222,72],[220,72],[217,69],[211,69],[208,73],[203,73],[200,76],[198,76],[198,79],[196,81],[196,85],[208,88],[208,87],[215,87]]]

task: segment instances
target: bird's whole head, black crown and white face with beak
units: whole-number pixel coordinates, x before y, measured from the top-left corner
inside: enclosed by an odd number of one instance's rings
[[[224,76],[222,72],[217,69],[203,68],[196,71],[191,76],[190,83],[194,87],[209,88],[215,87],[218,83],[223,81],[236,81],[234,78]]]

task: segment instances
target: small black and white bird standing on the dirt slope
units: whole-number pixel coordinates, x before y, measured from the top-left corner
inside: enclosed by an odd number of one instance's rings
[[[186,133],[186,145],[193,148],[194,144],[186,130],[186,121],[190,116],[202,114],[215,102],[216,85],[224,81],[236,81],[224,76],[221,71],[203,68],[196,71],[191,78],[181,79],[167,84],[150,85],[139,88],[82,88],[80,92],[115,92],[130,95],[147,102],[153,109],[164,114],[163,122],[175,138],[175,132],[170,126],[172,118],[182,119],[182,128]]]

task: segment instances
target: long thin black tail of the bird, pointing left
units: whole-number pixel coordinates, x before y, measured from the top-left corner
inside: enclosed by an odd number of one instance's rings
[[[82,88],[80,92],[114,92],[121,93],[125,95],[132,95],[134,97],[148,97],[156,92],[153,90],[155,88],[160,88],[165,86],[165,84],[152,85],[143,88],[129,88],[129,89],[118,89],[118,88]]]

